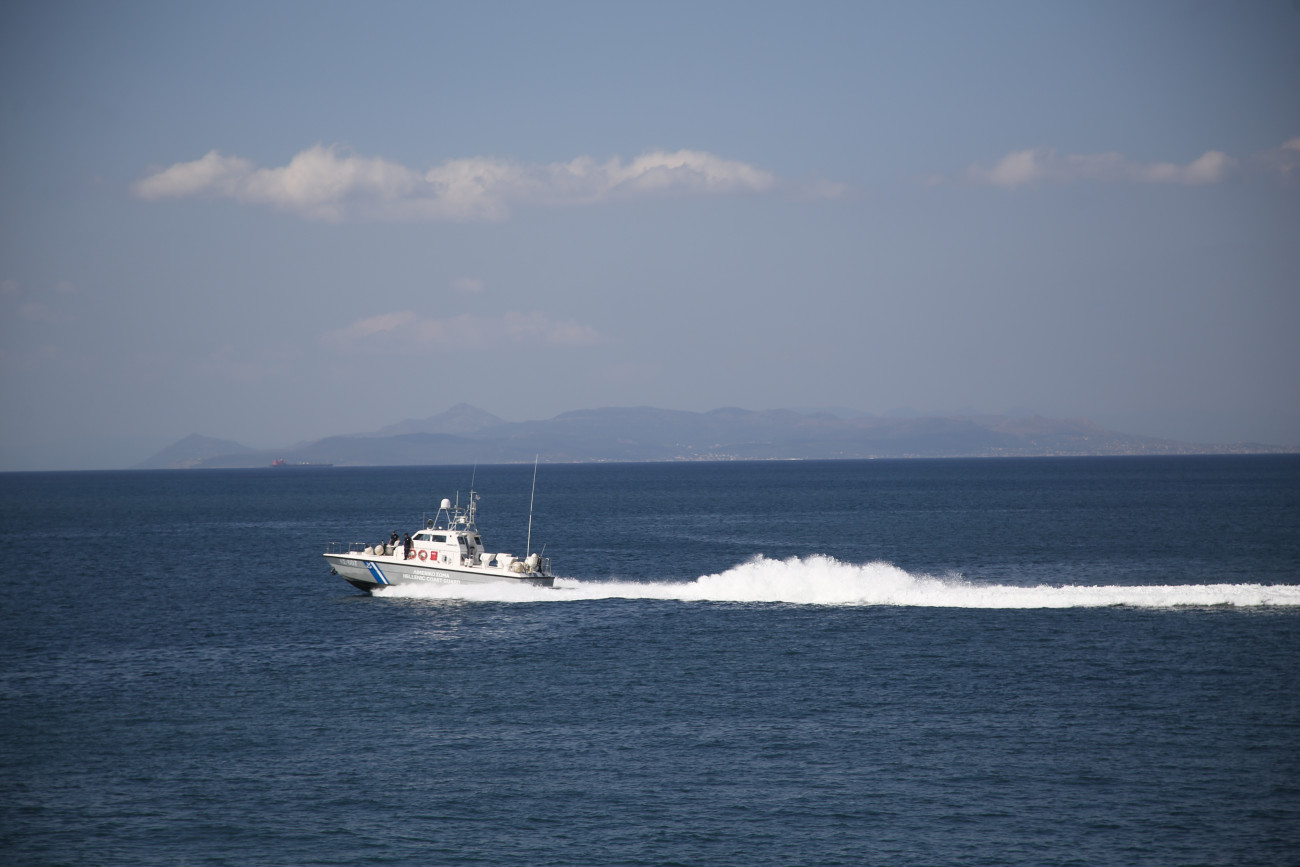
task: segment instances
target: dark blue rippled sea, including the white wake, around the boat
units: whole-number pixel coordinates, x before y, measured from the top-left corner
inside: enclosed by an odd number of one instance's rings
[[[1297,864],[1300,458],[0,476],[0,862]]]

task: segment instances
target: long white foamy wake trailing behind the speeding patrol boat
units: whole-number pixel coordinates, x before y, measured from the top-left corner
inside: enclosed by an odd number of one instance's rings
[[[1176,584],[1019,588],[961,576],[911,575],[889,563],[854,565],[829,556],[770,560],[763,556],[694,581],[578,581],[556,578],[555,589],[510,584],[402,585],[389,598],[481,602],[571,602],[580,599],[679,599],[682,602],[776,602],[824,606],[919,606],[944,608],[1078,608],[1136,606],[1300,606],[1300,585]]]

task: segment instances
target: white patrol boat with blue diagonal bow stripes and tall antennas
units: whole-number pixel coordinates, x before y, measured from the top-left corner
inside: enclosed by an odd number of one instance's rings
[[[551,562],[530,552],[523,559],[514,554],[493,554],[484,549],[474,519],[478,495],[469,491],[464,508],[443,499],[433,520],[411,536],[411,549],[402,542],[361,542],[329,545],[325,560],[330,575],[338,575],[354,588],[369,593],[376,588],[400,584],[532,584],[555,586]],[[528,543],[532,547],[532,516]]]

